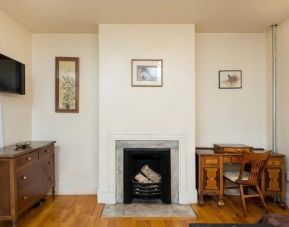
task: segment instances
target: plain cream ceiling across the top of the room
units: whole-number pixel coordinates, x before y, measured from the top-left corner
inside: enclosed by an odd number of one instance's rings
[[[0,0],[0,9],[33,33],[90,33],[110,23],[266,32],[289,18],[289,0]]]

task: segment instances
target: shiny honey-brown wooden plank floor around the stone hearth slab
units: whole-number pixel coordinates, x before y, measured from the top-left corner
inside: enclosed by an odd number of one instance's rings
[[[96,196],[57,196],[47,198],[42,205],[31,208],[17,222],[18,227],[188,227],[189,223],[254,223],[263,214],[258,200],[248,200],[248,216],[242,216],[241,201],[237,196],[225,197],[225,207],[216,205],[216,198],[208,198],[204,206],[193,204],[197,218],[101,218],[103,204]],[[267,202],[271,213],[289,214],[277,204]],[[11,226],[0,222],[0,227]]]

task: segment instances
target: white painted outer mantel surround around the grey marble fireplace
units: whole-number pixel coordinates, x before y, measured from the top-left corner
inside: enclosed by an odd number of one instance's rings
[[[185,133],[180,134],[116,134],[107,135],[107,149],[99,151],[98,202],[116,203],[116,141],[119,140],[175,140],[179,142],[179,204],[197,202],[195,187],[195,148]]]

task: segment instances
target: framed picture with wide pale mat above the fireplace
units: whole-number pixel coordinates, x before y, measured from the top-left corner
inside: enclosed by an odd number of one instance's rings
[[[132,59],[131,60],[132,87],[162,87],[163,60],[162,59]]]

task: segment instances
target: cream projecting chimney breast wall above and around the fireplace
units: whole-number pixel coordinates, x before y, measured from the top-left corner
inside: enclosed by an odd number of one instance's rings
[[[186,138],[180,165],[187,166],[181,176],[188,176],[180,197],[187,193],[186,201],[196,201],[194,30],[194,25],[99,26],[100,202],[113,203],[115,192],[111,134],[174,133]],[[131,59],[163,59],[163,87],[131,87]]]

